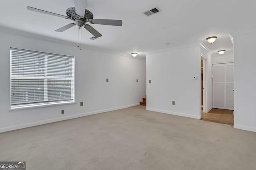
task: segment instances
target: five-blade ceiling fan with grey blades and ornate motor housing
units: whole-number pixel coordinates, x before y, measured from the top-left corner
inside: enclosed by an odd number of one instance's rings
[[[89,31],[94,36],[91,39],[97,39],[98,37],[101,37],[102,34],[99,33],[96,29],[94,29],[91,25],[88,25],[87,23],[100,24],[100,25],[122,26],[122,20],[94,19],[92,12],[90,12],[89,10],[86,9],[87,0],[74,0],[74,3],[75,3],[75,7],[70,7],[66,10],[67,16],[40,10],[40,9],[33,8],[30,6],[27,6],[27,9],[34,11],[34,12],[40,12],[43,14],[48,14],[48,15],[52,15],[52,16],[58,16],[61,18],[65,18],[68,20],[73,20],[74,23],[69,23],[68,25],[65,25],[64,27],[56,29],[55,31],[63,32],[65,30],[73,27],[74,25],[77,25],[79,27],[79,29],[81,29],[81,27],[84,27],[87,31]]]

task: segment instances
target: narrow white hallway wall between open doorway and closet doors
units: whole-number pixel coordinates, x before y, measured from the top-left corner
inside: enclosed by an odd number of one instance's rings
[[[213,108],[212,90],[212,54],[209,49],[201,45],[201,55],[206,59],[206,113]]]

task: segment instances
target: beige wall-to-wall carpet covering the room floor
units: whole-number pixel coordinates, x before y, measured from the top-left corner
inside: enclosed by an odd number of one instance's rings
[[[145,106],[0,134],[27,170],[255,170],[256,133]]]

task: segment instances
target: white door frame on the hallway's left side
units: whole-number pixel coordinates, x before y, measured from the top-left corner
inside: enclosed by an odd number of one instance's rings
[[[207,64],[206,64],[207,59],[202,54],[201,54],[201,59],[203,60],[203,88],[204,88],[204,90],[203,90],[203,112],[207,113],[207,91],[206,91],[207,90]],[[200,81],[202,84],[202,80],[200,80]],[[201,96],[202,96],[202,94],[201,94]],[[200,96],[200,98],[202,101],[201,96]],[[201,109],[201,111],[202,111],[202,109]]]

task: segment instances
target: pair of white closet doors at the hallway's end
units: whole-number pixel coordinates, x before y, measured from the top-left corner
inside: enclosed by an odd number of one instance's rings
[[[234,63],[213,64],[213,107],[234,109]]]

